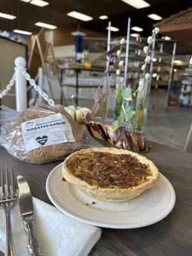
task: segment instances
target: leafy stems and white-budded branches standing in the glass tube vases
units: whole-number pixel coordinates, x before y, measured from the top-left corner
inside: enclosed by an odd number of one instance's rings
[[[147,65],[151,61],[151,57],[149,54],[150,47],[152,46],[152,43],[154,42],[154,38],[157,35],[157,33],[159,33],[159,28],[153,29],[152,36],[148,36],[147,45],[143,48],[143,51],[145,52],[145,62],[141,67],[143,75],[138,84],[138,88],[135,91],[132,90],[131,86],[123,87],[123,83],[125,82],[124,77],[120,76],[120,69],[124,65],[124,61],[121,60],[121,52],[122,47],[125,44],[125,39],[122,38],[120,40],[120,49],[116,52],[116,54],[113,54],[113,52],[109,51],[107,54],[107,58],[103,59],[108,61],[109,63],[111,61],[111,58],[118,58],[118,68],[116,70],[117,83],[115,90],[115,118],[113,120],[113,129],[116,129],[120,125],[120,122],[126,122],[130,125],[131,129],[140,132],[143,124],[143,119],[147,118],[147,109],[145,108],[145,102],[147,98],[148,79],[150,77],[150,74],[147,73]],[[108,67],[109,65],[107,65],[105,71],[106,74],[103,77],[102,82],[99,85],[99,88],[95,91],[93,95],[95,104],[93,105],[92,116],[87,116],[87,120],[90,120],[90,118],[92,118],[95,115],[95,113],[97,113],[99,109],[100,99],[102,99],[101,118],[107,118],[110,90],[110,84],[108,80]],[[100,92],[101,86],[103,86],[102,93]],[[134,97],[136,97],[135,108],[131,104],[132,99]]]

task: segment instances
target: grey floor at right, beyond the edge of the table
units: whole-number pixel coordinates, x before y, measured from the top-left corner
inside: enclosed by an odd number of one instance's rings
[[[170,106],[165,110],[165,93],[159,93],[156,108],[150,106],[143,130],[149,140],[183,150],[191,123],[192,109]]]

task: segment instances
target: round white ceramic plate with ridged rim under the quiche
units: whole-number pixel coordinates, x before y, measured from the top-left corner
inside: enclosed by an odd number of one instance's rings
[[[97,200],[62,178],[61,164],[47,177],[46,190],[52,204],[68,216],[98,227],[145,227],[163,220],[175,204],[172,184],[162,174],[154,188],[127,202]]]

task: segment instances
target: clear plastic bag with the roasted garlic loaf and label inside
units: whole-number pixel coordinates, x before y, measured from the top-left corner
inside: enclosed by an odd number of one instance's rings
[[[0,145],[28,163],[48,163],[83,148],[102,147],[63,106],[36,104],[22,113],[0,110]]]

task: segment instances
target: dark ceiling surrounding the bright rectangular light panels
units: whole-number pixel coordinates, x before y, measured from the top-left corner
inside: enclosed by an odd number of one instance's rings
[[[0,29],[13,31],[21,29],[38,33],[36,22],[52,24],[58,28],[65,28],[72,24],[81,24],[82,27],[107,33],[108,21],[120,31],[113,35],[125,35],[127,30],[127,18],[131,17],[131,26],[143,28],[141,36],[147,36],[152,30],[154,20],[147,17],[150,13],[156,13],[166,18],[185,10],[191,6],[190,1],[182,0],[146,0],[150,4],[147,8],[136,9],[121,0],[46,0],[49,5],[44,7],[35,6],[19,0],[1,0],[0,12],[17,16],[17,19],[0,19]],[[68,17],[68,12],[80,12],[93,17],[93,20],[82,22]],[[108,15],[109,19],[101,20],[101,15]]]

